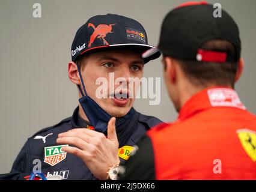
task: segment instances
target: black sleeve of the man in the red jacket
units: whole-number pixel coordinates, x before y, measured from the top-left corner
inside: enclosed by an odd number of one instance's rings
[[[146,180],[156,179],[154,153],[150,137],[143,136],[135,147],[136,152],[128,161],[121,164],[118,179]]]

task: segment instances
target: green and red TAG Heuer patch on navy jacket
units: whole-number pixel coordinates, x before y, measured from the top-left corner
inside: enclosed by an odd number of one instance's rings
[[[61,150],[63,146],[69,145],[58,145],[58,146],[47,146],[44,148],[44,163],[55,166],[62,160],[66,159],[67,152]]]

